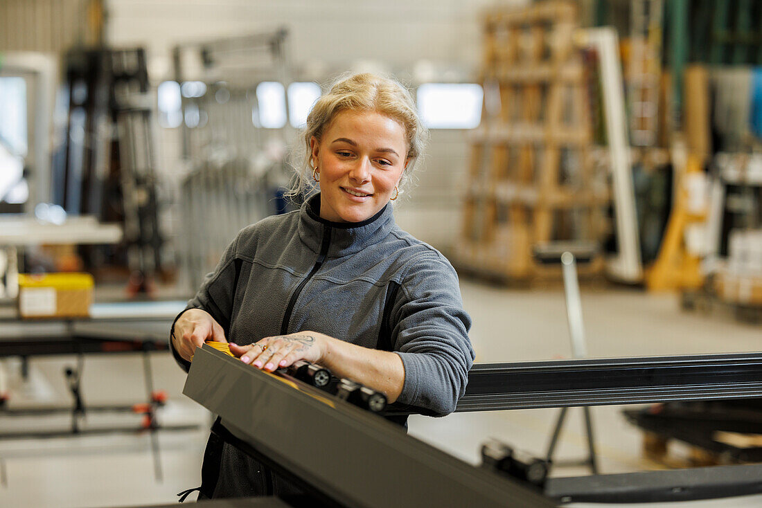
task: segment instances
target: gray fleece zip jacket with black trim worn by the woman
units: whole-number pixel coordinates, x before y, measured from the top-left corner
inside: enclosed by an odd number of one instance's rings
[[[319,203],[313,196],[242,229],[188,308],[209,312],[239,344],[309,330],[394,351],[405,367],[398,404],[434,416],[454,411],[474,353],[452,265],[403,232],[391,205],[344,224],[320,218]]]

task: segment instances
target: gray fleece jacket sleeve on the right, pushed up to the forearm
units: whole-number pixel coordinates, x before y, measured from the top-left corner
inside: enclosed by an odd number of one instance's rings
[[[474,360],[458,276],[441,254],[427,252],[412,261],[392,308],[392,343],[405,366],[398,401],[444,416],[455,411],[466,392]]]

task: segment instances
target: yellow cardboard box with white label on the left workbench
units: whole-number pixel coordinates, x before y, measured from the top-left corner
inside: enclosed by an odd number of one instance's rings
[[[93,277],[89,273],[20,273],[21,318],[80,318],[90,315]]]

